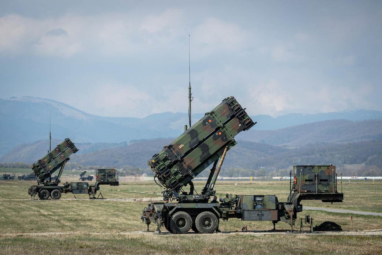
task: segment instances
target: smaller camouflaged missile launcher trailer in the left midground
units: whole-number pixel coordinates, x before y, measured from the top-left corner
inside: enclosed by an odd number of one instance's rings
[[[60,186],[60,177],[65,167],[65,163],[70,160],[69,156],[76,153],[78,149],[66,138],[55,149],[49,152],[45,157],[32,165],[32,170],[37,178],[37,185],[28,189],[31,197],[39,196],[40,199],[60,199],[62,193],[89,194],[89,197],[95,198],[99,185],[118,186],[118,175],[115,169],[99,169],[97,177],[107,176],[104,181],[96,181],[95,185],[89,185],[87,182],[66,182]],[[52,178],[52,174],[59,169],[58,175]]]

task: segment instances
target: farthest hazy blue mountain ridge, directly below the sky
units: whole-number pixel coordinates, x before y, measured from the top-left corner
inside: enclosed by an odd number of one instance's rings
[[[216,104],[218,103],[220,100],[216,99]],[[206,111],[209,110],[211,109],[206,109]],[[187,113],[167,112],[151,114],[142,118],[115,118],[89,114],[65,103],[43,98],[0,99],[0,118],[2,120],[0,125],[0,157],[10,152],[17,145],[47,139],[49,137],[49,111],[52,113],[53,138],[63,140],[70,137],[76,142],[120,143],[133,139],[177,137],[183,132],[183,124],[188,123]],[[204,113],[193,114],[193,122],[203,115]],[[257,121],[257,124],[251,129],[252,132],[282,129],[332,119],[381,120],[382,112],[355,109],[317,114],[294,113],[277,118],[268,115],[251,117]],[[274,137],[272,132],[265,132],[259,136],[267,136],[267,134]],[[253,136],[249,137],[249,140],[261,141],[262,139]],[[267,138],[267,141],[271,140],[272,138]],[[288,142],[285,143],[288,144]]]

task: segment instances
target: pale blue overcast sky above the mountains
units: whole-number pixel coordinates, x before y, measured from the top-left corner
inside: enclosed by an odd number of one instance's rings
[[[80,2],[80,3],[78,3]],[[0,2],[0,98],[103,116],[382,110],[382,1]]]

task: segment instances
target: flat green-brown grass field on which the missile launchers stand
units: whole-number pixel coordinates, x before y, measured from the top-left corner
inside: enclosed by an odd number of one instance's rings
[[[70,178],[68,178],[70,181]],[[72,180],[74,181],[74,180]],[[236,183],[236,185],[235,185]],[[0,181],[0,254],[381,254],[382,238],[378,236],[317,236],[245,234],[137,234],[146,228],[141,220],[148,202],[119,200],[30,200],[27,190],[33,181]],[[201,190],[203,182],[196,182]],[[275,194],[279,201],[288,196],[288,181],[219,181],[218,196],[232,194]],[[160,198],[160,187],[154,182],[121,182],[120,186],[101,186],[105,198]],[[304,206],[342,208],[382,212],[382,181],[352,181],[343,185],[343,203],[327,204],[303,201]],[[87,195],[76,195],[88,198]],[[62,199],[73,198],[63,194]],[[304,210],[298,217],[310,214],[314,225],[334,221],[345,231],[382,229],[382,217]],[[221,222],[220,230],[269,230],[271,222]],[[283,222],[276,229],[288,230]],[[151,226],[154,230],[154,226]],[[53,232],[56,234],[39,234]],[[118,234],[123,233],[123,234]],[[26,233],[34,233],[32,235]],[[37,234],[36,234],[37,233]],[[11,234],[11,235],[10,235]],[[319,247],[320,249],[317,249]],[[297,250],[296,250],[297,249]]]

